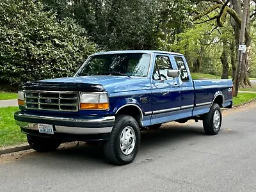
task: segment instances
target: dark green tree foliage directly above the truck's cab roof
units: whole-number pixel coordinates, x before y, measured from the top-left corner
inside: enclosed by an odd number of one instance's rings
[[[152,6],[147,0],[74,1],[74,19],[102,49],[152,49],[157,37]]]

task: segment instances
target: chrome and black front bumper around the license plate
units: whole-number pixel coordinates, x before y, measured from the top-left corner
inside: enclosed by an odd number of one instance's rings
[[[22,132],[35,134],[38,132],[38,124],[53,125],[54,134],[72,134],[72,135],[92,135],[92,134],[108,134],[112,131],[115,122],[115,116],[66,118],[60,116],[41,116],[30,115],[22,111],[14,113],[17,125]],[[40,134],[38,132],[38,134]]]

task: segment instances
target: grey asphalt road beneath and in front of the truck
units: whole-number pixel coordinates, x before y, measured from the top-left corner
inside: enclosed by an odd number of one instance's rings
[[[142,134],[134,163],[106,163],[101,147],[76,143],[0,159],[0,191],[256,191],[256,104],[225,111],[217,136],[202,123]]]

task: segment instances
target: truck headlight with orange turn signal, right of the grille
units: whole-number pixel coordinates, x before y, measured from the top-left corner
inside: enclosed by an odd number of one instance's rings
[[[109,109],[107,93],[81,93],[80,109]]]

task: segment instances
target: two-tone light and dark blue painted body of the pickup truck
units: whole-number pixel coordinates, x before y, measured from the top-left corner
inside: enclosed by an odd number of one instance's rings
[[[114,51],[101,52],[97,54],[132,53],[140,52],[150,54],[150,68],[147,77],[127,77],[127,76],[81,76],[64,77],[56,79],[45,79],[42,82],[67,82],[67,83],[93,83],[104,86],[109,95],[108,110],[79,110],[77,112],[61,111],[38,111],[27,109],[29,114],[48,116],[72,116],[73,118],[97,118],[97,116],[115,115],[118,109],[126,104],[133,104],[141,109],[143,116],[141,124],[148,126],[178,120],[180,118],[190,118],[191,116],[208,113],[211,104],[196,106],[205,102],[213,102],[218,95],[223,95],[223,107],[232,104],[232,81],[230,79],[204,79],[193,80],[189,72],[188,63],[182,54],[163,51]],[[93,56],[97,55],[93,54]],[[180,57],[184,61],[188,71],[188,81],[181,78],[169,78],[163,81],[152,79],[155,58],[157,55],[167,56],[173,69],[178,69],[175,57]],[[84,62],[83,66],[86,65]],[[83,68],[83,66],[81,68]],[[81,71],[81,68],[77,71]],[[177,86],[174,84],[177,83]],[[147,102],[143,102],[143,100]],[[189,106],[189,107],[188,107]],[[183,109],[184,108],[184,109]],[[173,111],[166,111],[175,109]],[[20,110],[26,109],[20,107]],[[157,113],[163,111],[163,113]],[[151,112],[145,115],[145,112]]]

